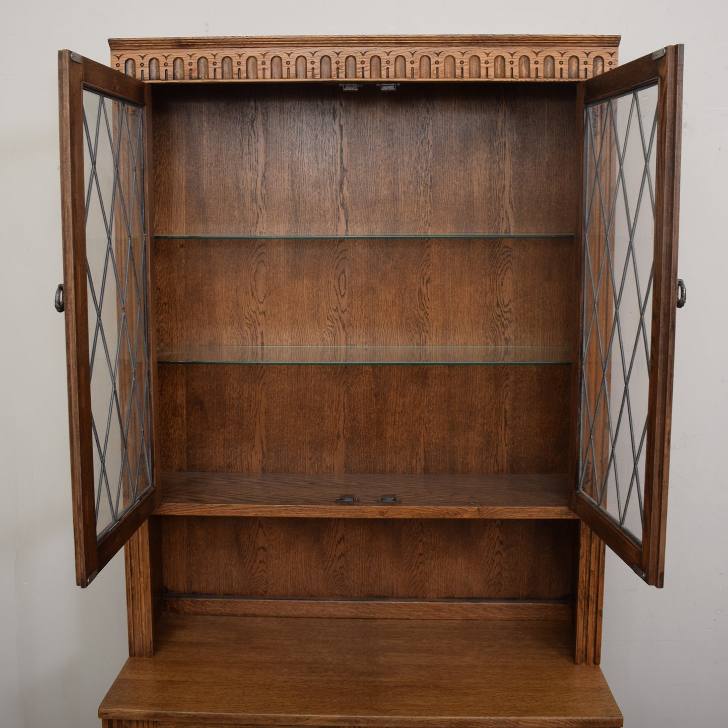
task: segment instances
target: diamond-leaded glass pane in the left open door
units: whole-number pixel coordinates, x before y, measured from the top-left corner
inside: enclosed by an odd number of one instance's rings
[[[96,534],[151,487],[144,111],[84,90]]]

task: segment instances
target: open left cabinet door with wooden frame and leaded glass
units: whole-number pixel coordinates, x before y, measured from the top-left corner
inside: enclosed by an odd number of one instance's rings
[[[145,84],[58,54],[63,288],[76,579],[154,508],[155,381]]]

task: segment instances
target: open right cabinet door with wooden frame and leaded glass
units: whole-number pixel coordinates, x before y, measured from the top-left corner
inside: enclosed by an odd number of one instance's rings
[[[580,84],[583,139],[572,507],[662,586],[670,456],[682,46]]]

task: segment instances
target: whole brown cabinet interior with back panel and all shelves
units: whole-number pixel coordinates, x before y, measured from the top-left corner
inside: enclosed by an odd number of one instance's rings
[[[574,105],[154,85],[167,596],[569,604]]]

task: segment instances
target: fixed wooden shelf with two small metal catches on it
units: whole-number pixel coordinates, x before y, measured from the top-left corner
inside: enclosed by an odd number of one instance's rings
[[[161,515],[577,518],[566,475],[163,472]],[[354,502],[341,502],[354,496]],[[383,496],[396,501],[381,502]]]

